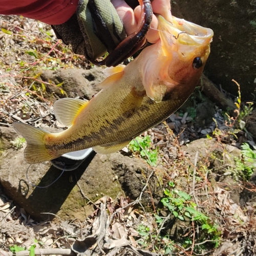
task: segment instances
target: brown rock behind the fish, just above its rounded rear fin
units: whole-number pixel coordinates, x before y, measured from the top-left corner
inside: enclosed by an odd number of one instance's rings
[[[78,68],[45,70],[40,75],[42,81],[61,86],[54,87],[46,84],[46,98],[53,97],[55,100],[65,97],[79,97],[80,99],[91,99],[100,91],[98,84],[106,77],[102,68],[95,67],[90,70]],[[63,90],[61,93],[60,89]]]

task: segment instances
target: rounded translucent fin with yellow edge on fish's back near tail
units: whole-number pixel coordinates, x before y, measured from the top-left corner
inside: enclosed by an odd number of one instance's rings
[[[63,98],[54,103],[53,110],[58,122],[69,127],[76,115],[88,104],[88,100]]]

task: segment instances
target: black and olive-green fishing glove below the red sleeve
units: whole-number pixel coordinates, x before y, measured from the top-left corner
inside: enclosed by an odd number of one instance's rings
[[[76,13],[66,23],[52,28],[58,39],[88,60],[95,60],[107,51],[111,53],[126,37],[110,0],[79,0]]]

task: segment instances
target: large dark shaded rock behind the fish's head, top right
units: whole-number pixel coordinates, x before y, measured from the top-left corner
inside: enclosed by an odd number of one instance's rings
[[[218,86],[242,99],[255,99],[256,89],[256,1],[205,0],[172,2],[174,16],[214,30],[205,74]],[[234,15],[234,13],[236,15]]]

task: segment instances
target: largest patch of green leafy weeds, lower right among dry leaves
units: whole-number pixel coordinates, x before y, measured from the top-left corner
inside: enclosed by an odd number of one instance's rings
[[[137,228],[140,239],[137,241],[143,248],[152,247],[154,251],[165,255],[177,252],[179,248],[194,248],[197,253],[202,253],[207,246],[217,248],[220,243],[221,232],[217,223],[212,223],[209,217],[197,209],[197,204],[191,201],[191,196],[182,190],[175,188],[174,182],[169,182],[169,189],[164,190],[164,197],[161,202],[167,209],[167,217],[155,214],[156,228],[150,230],[145,224],[140,224]],[[160,211],[161,209],[159,209]],[[191,226],[197,227],[197,232],[193,228],[188,230],[193,234],[184,234],[180,239],[175,238],[175,242],[168,234],[168,222],[178,218],[181,221],[190,221]],[[171,221],[173,222],[173,220]],[[193,238],[194,237],[194,238]],[[207,241],[208,242],[207,242]],[[195,246],[194,242],[195,241]],[[198,246],[197,244],[200,244]]]

